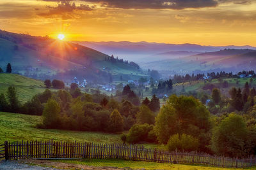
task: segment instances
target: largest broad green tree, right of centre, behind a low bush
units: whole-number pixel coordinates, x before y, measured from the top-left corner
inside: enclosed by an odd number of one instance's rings
[[[186,133],[200,141],[199,149],[206,151],[211,129],[210,113],[194,97],[170,96],[156,117],[156,132],[159,143],[167,143],[173,134]]]

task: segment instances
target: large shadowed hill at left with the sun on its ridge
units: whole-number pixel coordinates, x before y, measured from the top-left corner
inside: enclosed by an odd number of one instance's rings
[[[41,36],[0,31],[0,67],[10,62],[15,73],[33,78],[67,81],[74,76],[95,82],[109,82],[120,75],[132,77],[143,72],[125,62],[111,62],[109,55],[92,48]]]

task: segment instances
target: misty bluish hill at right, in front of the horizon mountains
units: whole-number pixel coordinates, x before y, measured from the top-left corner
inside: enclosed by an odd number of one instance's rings
[[[211,71],[256,70],[256,50],[226,49],[204,52],[179,59],[141,63],[141,67],[157,69],[165,77],[173,74],[209,73]]]

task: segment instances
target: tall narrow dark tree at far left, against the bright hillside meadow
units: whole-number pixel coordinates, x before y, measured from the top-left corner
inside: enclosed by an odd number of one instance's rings
[[[19,111],[20,103],[19,103],[19,100],[17,97],[17,92],[16,92],[15,87],[12,87],[12,86],[8,87],[7,99],[10,104],[10,111],[12,111],[14,113]]]

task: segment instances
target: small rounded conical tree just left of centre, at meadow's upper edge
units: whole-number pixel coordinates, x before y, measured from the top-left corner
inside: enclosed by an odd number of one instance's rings
[[[120,132],[124,129],[124,120],[118,110],[113,110],[109,117],[108,129],[110,132]]]

